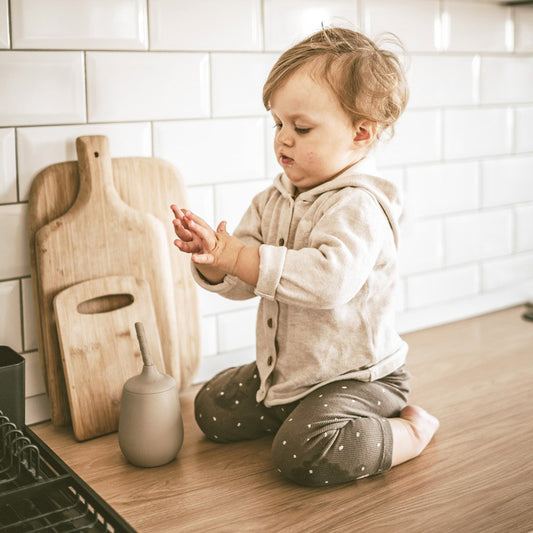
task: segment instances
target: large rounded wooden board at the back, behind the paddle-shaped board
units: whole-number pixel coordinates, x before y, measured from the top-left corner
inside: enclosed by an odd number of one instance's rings
[[[100,137],[87,137],[87,139],[96,142]],[[105,137],[103,138],[105,139]],[[100,141],[98,141],[100,142]],[[107,139],[105,139],[107,142]],[[192,380],[195,374],[200,358],[200,335],[199,335],[199,316],[197,310],[196,288],[189,270],[189,261],[184,254],[179,254],[175,250],[172,241],[174,239],[173,228],[170,222],[171,203],[176,202],[180,205],[186,205],[185,189],[181,177],[169,163],[154,158],[122,158],[113,159],[112,165],[112,183],[120,199],[128,206],[144,213],[152,215],[159,220],[161,227],[158,229],[161,239],[164,241],[160,252],[167,250],[168,261],[170,262],[170,282],[168,285],[161,287],[161,290],[155,290],[156,287],[151,285],[152,297],[156,304],[156,312],[159,300],[166,302],[172,300],[174,308],[170,310],[170,315],[163,318],[163,322],[174,322],[174,328],[177,333],[174,335],[161,335],[166,372],[186,386]],[[43,362],[43,373],[51,401],[52,420],[56,424],[66,424],[69,421],[68,402],[63,370],[61,367],[61,358],[59,354],[59,345],[55,326],[53,324],[53,315],[51,312],[51,302],[49,299],[43,300],[40,291],[40,276],[37,266],[37,253],[35,238],[37,232],[52,221],[56,221],[67,213],[77,202],[78,191],[80,189],[80,178],[78,175],[78,164],[76,162],[65,162],[51,165],[44,169],[33,181],[30,200],[29,200],[29,242],[30,242],[30,259],[32,267],[32,280],[34,290],[35,314],[37,320],[37,333],[39,337],[39,352]],[[109,217],[109,214],[108,214]],[[156,225],[157,220],[152,219],[150,224]],[[93,221],[100,226],[103,221]],[[116,225],[116,222],[114,223]],[[114,231],[112,225],[106,222],[107,230]],[[73,235],[76,243],[76,251],[81,247],[80,238],[85,233],[90,232],[92,225],[85,228],[81,233]],[[121,231],[125,231],[122,228]],[[120,231],[120,230],[119,230]],[[102,243],[100,243],[100,247]],[[114,259],[116,252],[106,247],[106,259]],[[63,251],[63,254],[65,252]],[[93,253],[96,253],[93,250]],[[142,251],[139,246],[136,247],[136,253],[149,261],[156,261],[156,258],[150,258],[149,251]],[[160,254],[159,254],[160,255]],[[68,258],[63,255],[62,260],[66,263],[74,262],[74,258]],[[81,261],[76,258],[73,268],[77,268],[77,262]],[[157,269],[157,266],[152,266]],[[136,274],[135,269],[126,271],[112,272],[106,271],[90,275],[97,277],[108,274]],[[79,279],[77,281],[80,281]],[[53,297],[53,295],[52,295]],[[166,305],[165,303],[163,305]],[[183,310],[187,310],[187,320],[179,320]],[[159,313],[158,313],[159,319]],[[168,344],[172,346],[168,348]]]

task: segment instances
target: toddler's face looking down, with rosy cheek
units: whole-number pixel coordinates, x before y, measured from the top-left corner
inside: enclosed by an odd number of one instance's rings
[[[359,161],[364,153],[356,130],[326,82],[301,68],[272,94],[278,163],[298,188],[306,191]]]

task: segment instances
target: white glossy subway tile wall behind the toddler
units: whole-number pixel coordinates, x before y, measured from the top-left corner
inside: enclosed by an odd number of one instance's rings
[[[174,164],[232,230],[278,172],[262,85],[321,24],[404,43],[411,99],[376,156],[404,191],[400,331],[533,300],[533,8],[474,0],[0,0],[0,344],[49,416],[27,242],[36,174],[80,135]],[[169,212],[170,223],[170,212]],[[257,300],[199,289],[197,380],[253,358]]]

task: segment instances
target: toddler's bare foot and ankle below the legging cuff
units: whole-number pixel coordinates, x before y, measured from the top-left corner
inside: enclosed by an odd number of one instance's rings
[[[420,455],[429,444],[439,421],[417,405],[406,405],[399,418],[389,418],[392,427],[392,466]]]

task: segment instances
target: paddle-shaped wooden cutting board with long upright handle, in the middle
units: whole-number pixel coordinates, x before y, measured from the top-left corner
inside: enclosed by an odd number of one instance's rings
[[[48,383],[56,385],[49,389],[54,423],[61,423],[68,414],[52,305],[65,288],[108,275],[146,279],[152,294],[157,295],[154,308],[164,353],[177,352],[176,312],[168,294],[172,275],[163,226],[118,196],[107,138],[79,137],[76,149],[80,186],[74,205],[35,234],[43,351]],[[169,369],[173,374],[174,370]],[[179,375],[176,381],[179,383]]]

